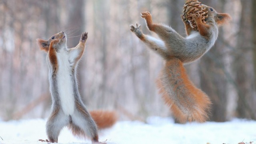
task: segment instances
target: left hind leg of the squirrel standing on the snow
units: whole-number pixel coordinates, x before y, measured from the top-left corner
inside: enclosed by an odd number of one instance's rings
[[[60,110],[59,107],[54,108],[48,121],[46,122],[46,133],[49,139],[49,142],[57,142],[60,130],[66,125],[68,125],[69,119],[68,116],[65,116],[64,112]]]

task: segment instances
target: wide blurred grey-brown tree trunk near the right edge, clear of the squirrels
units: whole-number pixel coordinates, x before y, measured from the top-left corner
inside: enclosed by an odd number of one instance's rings
[[[242,11],[240,18],[240,29],[236,44],[236,56],[234,68],[236,82],[238,84],[238,106],[239,118],[255,119],[252,100],[254,99],[254,76],[252,65],[252,0],[241,0]],[[255,10],[254,10],[255,11]],[[255,15],[254,13],[252,15]]]

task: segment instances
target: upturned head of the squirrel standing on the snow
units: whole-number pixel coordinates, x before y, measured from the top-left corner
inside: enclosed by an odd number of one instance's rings
[[[54,48],[66,45],[66,34],[64,32],[59,32],[51,36],[48,40],[37,39],[37,44],[39,48],[45,52],[48,52],[51,42],[54,41]]]

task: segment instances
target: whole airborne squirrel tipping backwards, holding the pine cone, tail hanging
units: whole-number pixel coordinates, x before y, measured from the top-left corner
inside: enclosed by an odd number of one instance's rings
[[[146,20],[148,29],[158,34],[160,39],[143,34],[138,24],[130,26],[140,40],[166,61],[157,86],[174,117],[182,123],[206,121],[211,105],[210,98],[190,81],[183,64],[198,60],[210,50],[218,37],[218,26],[230,19],[229,14],[220,14],[209,6],[203,6],[208,10],[206,24],[199,14],[192,14],[198,31],[182,18],[186,38],[169,26],[153,23],[149,12],[142,12],[141,17]]]

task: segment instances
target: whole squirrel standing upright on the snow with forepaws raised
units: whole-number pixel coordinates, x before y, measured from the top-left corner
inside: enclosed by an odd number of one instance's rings
[[[49,40],[37,39],[41,50],[47,52],[52,95],[52,112],[46,123],[47,142],[58,142],[60,130],[68,126],[74,135],[89,137],[92,143],[100,143],[98,128],[110,127],[116,122],[114,112],[98,110],[89,113],[78,92],[76,67],[84,53],[87,34],[82,33],[79,44],[69,49],[64,32],[54,34]]]

